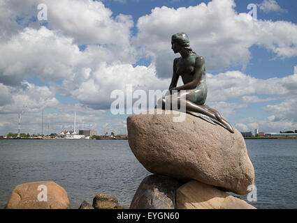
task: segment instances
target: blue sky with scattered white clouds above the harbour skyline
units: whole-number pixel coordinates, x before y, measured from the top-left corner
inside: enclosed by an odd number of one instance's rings
[[[294,0],[2,2],[0,134],[17,132],[24,106],[21,132],[40,133],[44,109],[50,132],[72,130],[75,111],[79,128],[125,133],[128,115],[110,113],[110,93],[168,89],[180,31],[205,57],[206,104],[240,131],[297,129]],[[37,20],[39,3],[47,21]]]

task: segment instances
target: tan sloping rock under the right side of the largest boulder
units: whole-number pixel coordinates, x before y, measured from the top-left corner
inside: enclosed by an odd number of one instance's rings
[[[178,188],[177,209],[256,209],[249,203],[196,180]]]

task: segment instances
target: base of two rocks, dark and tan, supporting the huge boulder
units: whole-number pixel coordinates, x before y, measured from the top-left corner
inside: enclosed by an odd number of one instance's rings
[[[140,183],[130,209],[256,209],[216,187],[196,180],[187,183],[150,175]]]

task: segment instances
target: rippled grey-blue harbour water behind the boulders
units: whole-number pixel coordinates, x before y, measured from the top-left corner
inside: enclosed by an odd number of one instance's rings
[[[297,139],[246,140],[256,173],[256,208],[297,208]],[[0,140],[0,208],[16,185],[52,180],[71,208],[113,194],[125,208],[150,173],[127,140]],[[247,196],[242,196],[247,201]]]

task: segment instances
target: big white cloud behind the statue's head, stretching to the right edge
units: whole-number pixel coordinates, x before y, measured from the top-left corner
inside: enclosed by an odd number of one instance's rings
[[[210,72],[238,64],[244,70],[252,45],[264,46],[280,58],[297,56],[296,24],[254,21],[247,13],[237,13],[235,6],[233,0],[213,0],[188,8],[154,8],[138,19],[134,43],[152,56],[159,77],[171,76],[171,36],[178,32],[188,34],[191,47],[205,57]]]

